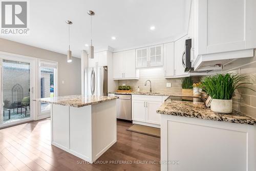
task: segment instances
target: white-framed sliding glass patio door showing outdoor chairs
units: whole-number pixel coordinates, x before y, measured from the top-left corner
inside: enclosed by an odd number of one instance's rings
[[[34,119],[35,59],[0,55],[0,127]]]

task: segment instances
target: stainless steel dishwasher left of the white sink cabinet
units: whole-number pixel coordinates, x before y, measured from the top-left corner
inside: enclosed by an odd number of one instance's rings
[[[132,121],[132,95],[115,94],[117,99],[117,119]]]

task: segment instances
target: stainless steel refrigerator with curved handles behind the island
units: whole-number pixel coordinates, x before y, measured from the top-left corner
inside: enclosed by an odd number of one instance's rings
[[[84,95],[108,96],[108,67],[84,70]]]

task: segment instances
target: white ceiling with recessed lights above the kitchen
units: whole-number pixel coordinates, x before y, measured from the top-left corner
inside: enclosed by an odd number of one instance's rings
[[[33,0],[30,2],[27,36],[0,36],[23,44],[67,54],[68,25],[71,50],[80,57],[90,45],[90,16],[93,10],[95,51],[108,46],[115,51],[172,41],[186,31],[188,0]],[[155,26],[155,30],[150,30]],[[111,39],[112,36],[116,40]]]

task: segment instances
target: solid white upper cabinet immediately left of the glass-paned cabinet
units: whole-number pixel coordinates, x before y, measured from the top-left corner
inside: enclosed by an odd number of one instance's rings
[[[135,49],[113,53],[114,79],[139,79],[135,66]]]

